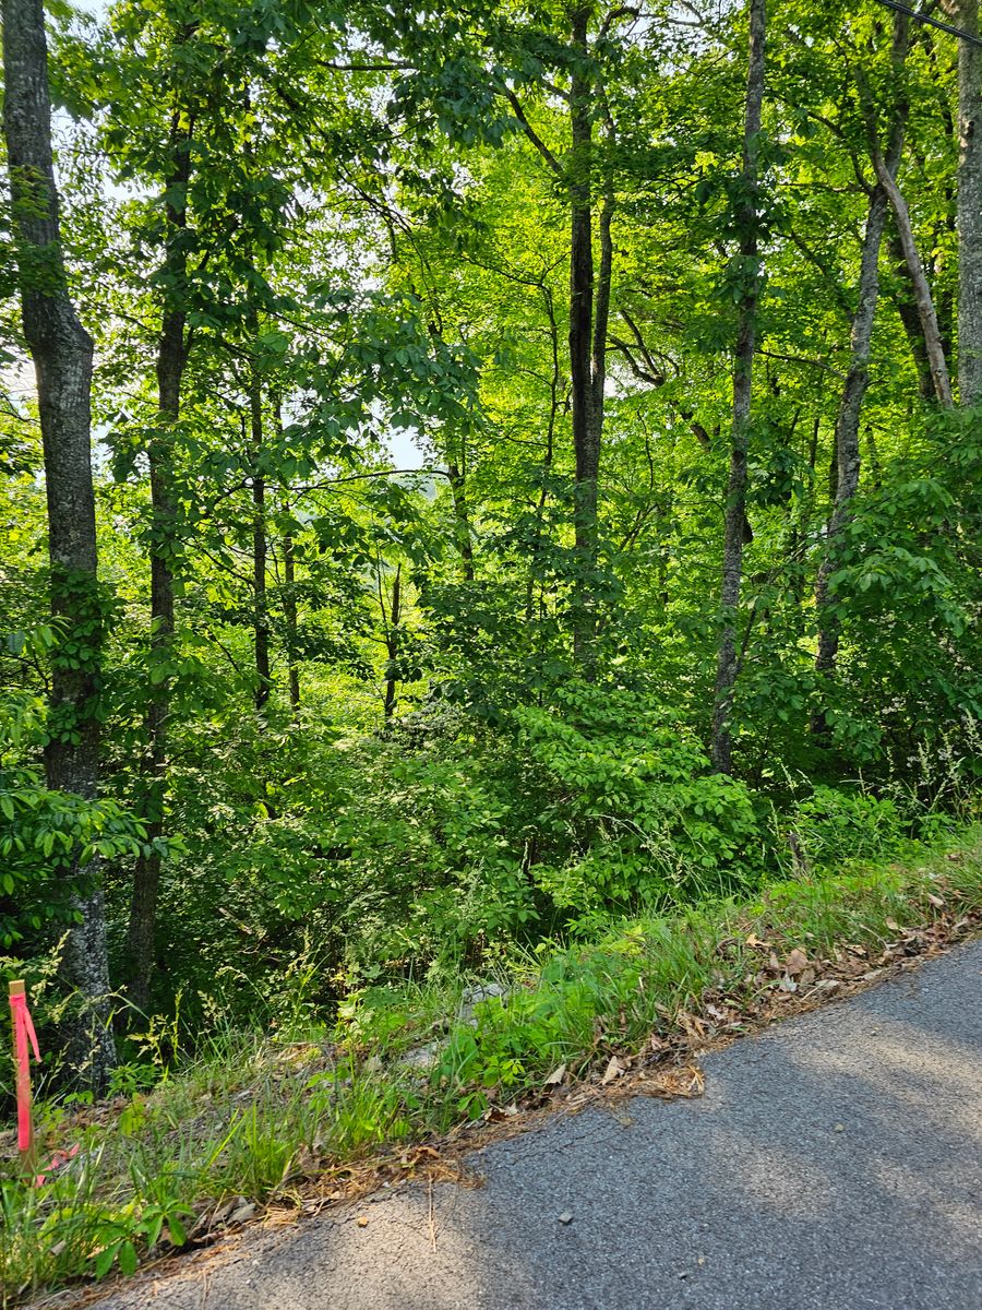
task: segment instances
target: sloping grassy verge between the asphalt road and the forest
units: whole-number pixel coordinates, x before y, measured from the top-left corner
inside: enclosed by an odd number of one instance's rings
[[[13,1161],[1,1166],[3,1306],[131,1272],[229,1201],[241,1217],[249,1203],[289,1201],[338,1170],[521,1102],[560,1065],[567,1079],[583,1077],[670,1034],[707,996],[749,1002],[762,985],[754,942],[814,960],[841,943],[873,956],[900,930],[979,910],[977,825],[944,846],[911,845],[901,862],[610,922],[589,941],[512,959],[495,979],[368,988],[331,1030],[215,1030],[151,1089],[39,1106],[42,1163],[79,1153],[43,1187],[18,1179]]]

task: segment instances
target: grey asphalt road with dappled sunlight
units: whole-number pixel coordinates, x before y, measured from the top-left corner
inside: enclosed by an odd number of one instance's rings
[[[974,942],[708,1056],[698,1100],[490,1146],[432,1226],[407,1186],[100,1310],[979,1310],[981,982]]]

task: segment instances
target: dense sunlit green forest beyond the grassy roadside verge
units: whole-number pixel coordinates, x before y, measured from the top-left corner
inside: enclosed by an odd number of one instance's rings
[[[970,824],[978,10],[3,0],[45,1094]]]

